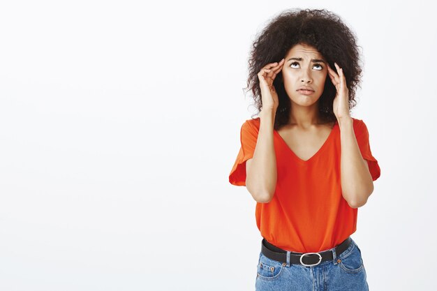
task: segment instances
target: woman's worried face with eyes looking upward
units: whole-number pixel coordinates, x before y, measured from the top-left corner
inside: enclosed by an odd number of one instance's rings
[[[282,76],[292,105],[310,106],[317,102],[325,87],[326,64],[326,59],[315,47],[298,44],[288,51]],[[301,90],[301,87],[309,87],[310,91]]]

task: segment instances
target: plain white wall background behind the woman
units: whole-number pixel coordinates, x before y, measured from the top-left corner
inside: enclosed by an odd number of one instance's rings
[[[255,201],[228,174],[251,42],[292,3],[2,1],[0,290],[254,290]],[[305,3],[363,47],[371,290],[429,290],[436,4]]]

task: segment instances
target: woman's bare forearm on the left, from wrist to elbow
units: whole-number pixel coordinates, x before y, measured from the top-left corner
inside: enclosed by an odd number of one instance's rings
[[[272,200],[276,189],[276,154],[274,152],[274,110],[261,110],[260,130],[253,157],[246,161],[246,188],[257,202]]]

